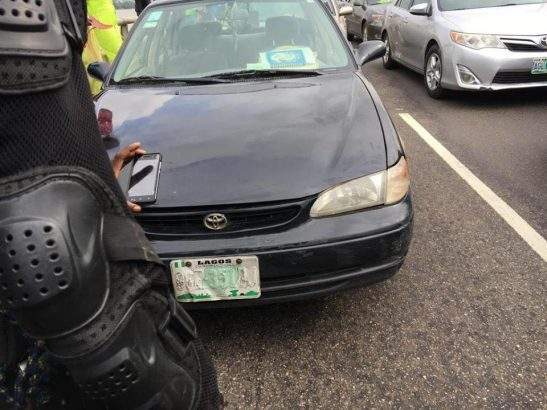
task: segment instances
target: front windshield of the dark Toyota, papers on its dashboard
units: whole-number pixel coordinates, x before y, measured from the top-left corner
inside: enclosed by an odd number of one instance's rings
[[[134,27],[113,80],[348,67],[348,48],[335,27],[317,0],[158,5]]]

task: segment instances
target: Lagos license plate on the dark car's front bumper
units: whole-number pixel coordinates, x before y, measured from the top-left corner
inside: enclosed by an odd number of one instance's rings
[[[256,256],[173,260],[171,278],[179,302],[260,297],[260,271]]]

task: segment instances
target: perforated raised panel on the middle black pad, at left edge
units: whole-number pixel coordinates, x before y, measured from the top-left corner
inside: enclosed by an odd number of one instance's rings
[[[0,292],[9,307],[32,307],[51,300],[70,288],[73,271],[67,244],[54,222],[30,220],[0,226]]]

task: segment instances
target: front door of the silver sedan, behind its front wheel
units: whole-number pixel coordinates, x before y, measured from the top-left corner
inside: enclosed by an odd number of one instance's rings
[[[413,5],[422,3],[428,4],[431,10],[431,0],[414,0]],[[410,14],[410,11],[406,23],[402,26],[401,35],[404,39],[405,61],[418,70],[424,68],[423,50],[431,38],[432,29],[433,18],[431,16],[416,16]]]

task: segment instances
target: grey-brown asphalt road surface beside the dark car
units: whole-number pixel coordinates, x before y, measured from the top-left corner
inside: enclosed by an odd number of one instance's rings
[[[415,230],[393,279],[195,312],[228,408],[547,406],[547,263],[404,122],[409,113],[547,237],[547,90],[426,96],[365,72],[410,157]]]

